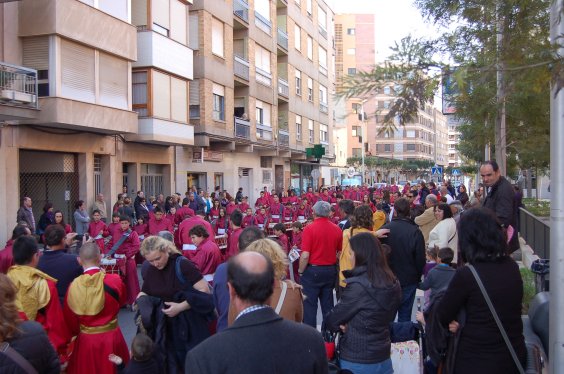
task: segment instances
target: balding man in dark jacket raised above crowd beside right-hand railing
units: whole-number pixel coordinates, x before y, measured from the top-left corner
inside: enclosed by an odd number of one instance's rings
[[[501,224],[509,229],[513,228],[513,234],[509,240],[509,253],[519,249],[519,235],[517,233],[515,212],[515,191],[511,183],[501,176],[497,162],[486,161],[480,167],[480,175],[485,186],[486,197],[483,202],[485,208],[494,211]]]

